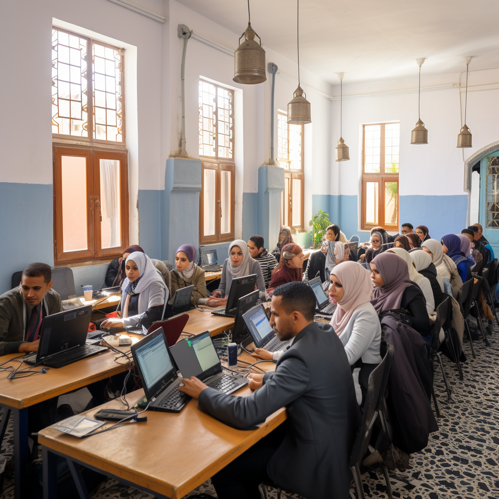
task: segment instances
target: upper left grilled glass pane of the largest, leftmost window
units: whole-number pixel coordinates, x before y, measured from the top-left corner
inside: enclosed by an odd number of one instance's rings
[[[87,137],[87,40],[52,29],[52,133]]]

